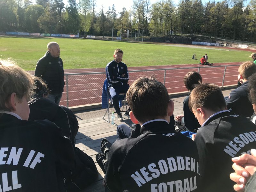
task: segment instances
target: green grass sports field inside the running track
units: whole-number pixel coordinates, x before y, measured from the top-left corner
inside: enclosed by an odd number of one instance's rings
[[[195,64],[205,53],[211,63],[251,60],[250,52],[220,51],[221,47],[213,50],[90,39],[13,36],[0,36],[0,58],[10,57],[25,70],[35,70],[37,60],[44,56],[50,41],[60,45],[60,57],[65,69],[105,68],[113,59],[116,48],[124,51],[123,62],[128,67]],[[197,60],[191,59],[194,53]]]

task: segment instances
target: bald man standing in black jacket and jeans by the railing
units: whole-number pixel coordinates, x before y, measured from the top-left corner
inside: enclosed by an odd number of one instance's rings
[[[56,42],[50,42],[47,48],[44,57],[37,61],[35,76],[44,79],[49,87],[48,99],[59,105],[65,84],[60,46]]]

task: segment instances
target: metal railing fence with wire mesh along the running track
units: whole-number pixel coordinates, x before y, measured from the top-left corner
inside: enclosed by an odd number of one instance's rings
[[[184,76],[190,71],[201,74],[203,82],[218,86],[232,85],[237,82],[239,65],[200,66],[189,68],[161,68],[129,71],[129,84],[141,76],[155,76],[162,82],[168,93],[187,91],[183,84]],[[105,72],[64,74],[65,87],[60,101],[67,107],[100,103]]]

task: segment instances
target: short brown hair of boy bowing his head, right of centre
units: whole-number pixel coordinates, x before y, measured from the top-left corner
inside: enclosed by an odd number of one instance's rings
[[[189,109],[206,108],[218,112],[226,107],[220,87],[209,83],[195,85],[188,101]]]

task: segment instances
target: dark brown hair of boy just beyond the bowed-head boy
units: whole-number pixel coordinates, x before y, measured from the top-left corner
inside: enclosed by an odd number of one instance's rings
[[[202,76],[196,71],[188,72],[183,79],[183,83],[188,91],[192,91],[195,84],[200,84],[201,82]]]

